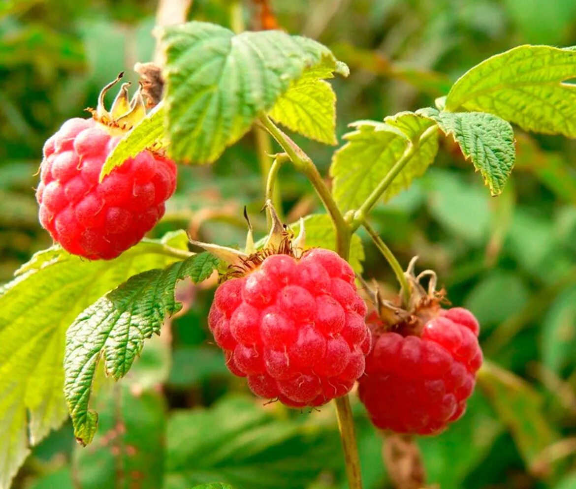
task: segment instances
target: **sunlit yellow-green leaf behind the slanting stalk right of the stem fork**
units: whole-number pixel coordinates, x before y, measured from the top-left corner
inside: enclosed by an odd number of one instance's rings
[[[342,211],[358,208],[391,172],[409,144],[418,144],[414,155],[384,192],[384,200],[408,188],[425,173],[438,151],[434,121],[412,112],[386,117],[383,123],[358,121],[356,131],[344,136],[348,142],[335,152],[330,167],[332,193]],[[430,130],[429,130],[430,129]]]

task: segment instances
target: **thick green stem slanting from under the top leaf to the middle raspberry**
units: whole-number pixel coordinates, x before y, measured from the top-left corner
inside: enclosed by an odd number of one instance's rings
[[[308,177],[334,223],[336,230],[336,251],[342,258],[348,259],[351,239],[350,229],[346,221],[344,221],[344,217],[340,209],[338,209],[334,198],[332,198],[332,194],[316,168],[316,165],[314,165],[309,156],[306,155],[290,137],[283,133],[266,114],[262,114],[259,120],[278,144],[282,146],[283,150],[286,151],[295,169],[301,171]]]

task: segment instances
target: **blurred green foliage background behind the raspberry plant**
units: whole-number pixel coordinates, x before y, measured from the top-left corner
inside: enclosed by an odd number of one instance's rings
[[[242,5],[247,28],[260,28],[258,3]],[[334,81],[339,136],[354,120],[433,105],[468,68],[518,44],[576,44],[569,0],[271,6],[283,29],[319,40],[350,66],[348,79]],[[229,25],[232,8],[195,0],[189,18]],[[155,12],[153,0],[0,3],[0,284],[51,244],[33,190],[44,140],[96,105],[119,71],[137,81],[130,70],[151,59]],[[516,138],[516,168],[502,196],[491,198],[445,142],[425,177],[373,215],[403,265],[418,254],[452,303],[478,316],[486,357],[498,365],[484,371],[460,422],[419,441],[429,483],[442,489],[576,488],[576,146],[520,130]],[[334,148],[296,139],[325,174]],[[182,167],[154,234],[185,227],[203,240],[241,243],[248,205],[262,235],[255,147],[250,134],[213,167]],[[280,181],[287,220],[319,210],[300,175],[285,168]],[[365,278],[394,291],[384,259],[363,238]],[[94,444],[79,448],[65,425],[33,450],[15,488],[345,487],[331,407],[304,414],[262,407],[210,342],[211,287],[183,286],[180,295],[185,308],[171,324],[171,345],[151,342],[128,379],[115,388],[102,382]],[[392,487],[381,438],[353,398],[365,487]]]

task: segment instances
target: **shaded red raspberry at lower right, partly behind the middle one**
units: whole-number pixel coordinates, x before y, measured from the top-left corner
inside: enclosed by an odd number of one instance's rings
[[[440,310],[420,337],[378,335],[382,322],[372,315],[369,324],[374,347],[359,379],[359,395],[374,425],[434,434],[464,414],[482,364],[478,321],[471,312]]]

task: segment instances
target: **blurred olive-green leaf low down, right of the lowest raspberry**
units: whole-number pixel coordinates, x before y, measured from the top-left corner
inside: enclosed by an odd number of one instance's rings
[[[535,470],[539,454],[558,438],[543,399],[520,377],[488,361],[478,372],[478,385],[510,431],[526,467]]]

